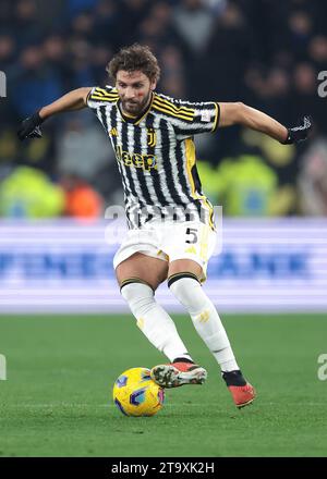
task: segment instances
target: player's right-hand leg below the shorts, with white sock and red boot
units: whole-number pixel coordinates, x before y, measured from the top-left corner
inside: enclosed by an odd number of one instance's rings
[[[168,286],[186,308],[197,333],[219,364],[235,405],[243,407],[254,400],[254,390],[243,378],[217,309],[201,285],[203,274],[196,261],[174,260],[169,265]]]

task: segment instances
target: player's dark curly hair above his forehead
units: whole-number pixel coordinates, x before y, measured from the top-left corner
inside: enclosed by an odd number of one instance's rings
[[[116,81],[120,70],[135,72],[138,70],[144,73],[150,82],[158,82],[160,67],[158,60],[150,51],[149,47],[133,44],[131,47],[123,47],[108,63],[106,71]]]

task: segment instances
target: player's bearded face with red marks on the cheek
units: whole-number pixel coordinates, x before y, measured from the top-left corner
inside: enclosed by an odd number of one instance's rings
[[[121,99],[123,111],[137,116],[148,106],[152,91],[156,88],[156,82],[150,82],[140,71],[126,72],[120,70],[117,73],[116,88]]]

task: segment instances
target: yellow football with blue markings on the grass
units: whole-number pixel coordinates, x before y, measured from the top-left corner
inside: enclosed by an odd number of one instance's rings
[[[125,416],[154,416],[164,401],[164,389],[152,380],[148,368],[128,369],[114,382],[113,402]]]

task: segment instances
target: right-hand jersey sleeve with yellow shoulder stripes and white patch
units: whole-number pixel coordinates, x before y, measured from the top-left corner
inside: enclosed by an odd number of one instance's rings
[[[180,139],[215,132],[219,124],[220,107],[215,101],[191,102],[157,95],[154,105],[159,112],[170,116]]]

